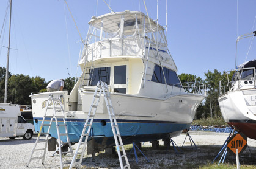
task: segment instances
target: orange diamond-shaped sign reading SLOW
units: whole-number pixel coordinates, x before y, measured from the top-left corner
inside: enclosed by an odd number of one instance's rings
[[[227,151],[236,154],[236,149],[238,153],[242,153],[247,147],[247,137],[243,133],[236,133],[227,140]]]

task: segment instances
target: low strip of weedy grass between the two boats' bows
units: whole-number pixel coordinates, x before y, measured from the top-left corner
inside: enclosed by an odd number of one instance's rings
[[[193,125],[200,125],[200,126],[222,126],[222,125],[227,125],[227,123],[225,122],[225,120],[222,117],[207,117],[207,118],[203,118],[203,119],[198,119],[198,120],[194,120]]]

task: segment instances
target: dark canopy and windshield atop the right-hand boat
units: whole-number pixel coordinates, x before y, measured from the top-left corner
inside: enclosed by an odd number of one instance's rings
[[[252,80],[254,78],[256,69],[256,59],[247,61],[246,63],[238,66],[238,71],[236,71],[232,77],[232,81],[235,80]],[[239,78],[238,78],[239,77]]]

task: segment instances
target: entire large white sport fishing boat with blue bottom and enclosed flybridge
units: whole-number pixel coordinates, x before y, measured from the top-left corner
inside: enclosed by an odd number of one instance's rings
[[[180,83],[164,31],[142,12],[93,16],[79,61],[82,74],[70,95],[57,91],[30,96],[35,130],[40,129],[49,94],[62,95],[70,141],[78,142],[95,86],[101,80],[108,84],[124,144],[180,135],[189,128],[205,98],[205,85]],[[51,136],[57,137],[56,129],[51,128]],[[114,145],[104,97],[90,139],[102,147]]]

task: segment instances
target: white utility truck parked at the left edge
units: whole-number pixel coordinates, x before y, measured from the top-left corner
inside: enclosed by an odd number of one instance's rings
[[[32,138],[35,131],[34,125],[27,123],[21,116],[20,106],[10,103],[0,103],[0,137],[23,137],[25,140]]]

